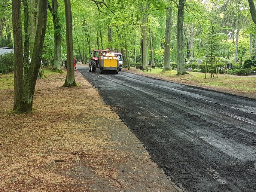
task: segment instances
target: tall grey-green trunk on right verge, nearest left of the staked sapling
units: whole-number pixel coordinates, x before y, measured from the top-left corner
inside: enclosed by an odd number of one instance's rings
[[[178,22],[177,22],[177,75],[187,74],[184,61],[184,40],[183,40],[183,22],[184,22],[184,4],[186,0],[179,0]]]

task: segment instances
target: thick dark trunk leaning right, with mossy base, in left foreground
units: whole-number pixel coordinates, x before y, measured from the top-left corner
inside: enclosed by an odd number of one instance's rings
[[[37,24],[31,65],[29,67],[28,77],[24,83],[22,99],[19,107],[17,108],[18,112],[32,111],[35,84],[41,66],[42,50],[47,23],[47,2],[48,0],[40,0],[39,2],[38,12],[40,15],[40,20],[38,20]]]

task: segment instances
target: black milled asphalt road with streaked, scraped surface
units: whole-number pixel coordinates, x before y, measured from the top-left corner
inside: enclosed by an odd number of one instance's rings
[[[256,191],[255,100],[78,70],[184,191]]]

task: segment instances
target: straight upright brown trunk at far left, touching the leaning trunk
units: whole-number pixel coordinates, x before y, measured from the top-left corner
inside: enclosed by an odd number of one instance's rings
[[[16,110],[20,104],[23,93],[23,46],[21,28],[21,0],[12,1],[12,25],[14,38],[14,104]]]

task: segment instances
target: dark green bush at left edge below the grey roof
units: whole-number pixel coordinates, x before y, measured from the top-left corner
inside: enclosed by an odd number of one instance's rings
[[[0,55],[0,73],[7,74],[14,70],[14,53]]]

